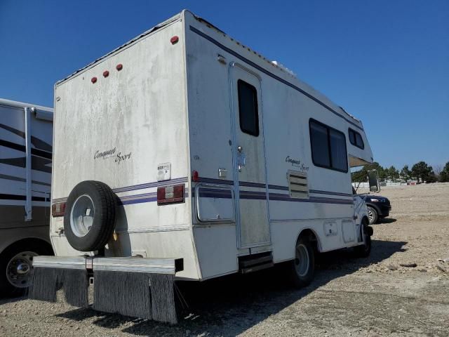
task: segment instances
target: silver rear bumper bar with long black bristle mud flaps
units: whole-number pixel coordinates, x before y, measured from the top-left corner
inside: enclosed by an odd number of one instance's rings
[[[87,308],[93,275],[95,310],[177,323],[174,281],[182,259],[37,256],[33,265],[29,298],[55,302],[62,288],[67,303]]]

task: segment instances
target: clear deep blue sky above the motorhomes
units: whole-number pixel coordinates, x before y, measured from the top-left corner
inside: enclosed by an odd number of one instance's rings
[[[0,0],[0,97],[53,85],[182,8],[362,119],[383,166],[449,161],[449,1]]]

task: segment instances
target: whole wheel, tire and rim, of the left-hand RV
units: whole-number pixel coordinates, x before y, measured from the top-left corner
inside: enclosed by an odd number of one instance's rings
[[[0,293],[8,297],[22,296],[29,286],[35,256],[53,255],[46,244],[27,243],[11,246],[0,256]]]

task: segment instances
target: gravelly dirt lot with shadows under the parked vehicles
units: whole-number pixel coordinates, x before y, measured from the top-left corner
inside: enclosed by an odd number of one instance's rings
[[[305,289],[288,289],[279,270],[181,284],[189,309],[177,326],[0,300],[0,336],[449,336],[449,184],[382,195],[393,211],[374,226],[370,258],[321,256]]]

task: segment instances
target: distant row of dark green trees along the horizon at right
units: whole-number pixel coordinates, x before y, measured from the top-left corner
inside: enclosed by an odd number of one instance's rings
[[[449,161],[445,166],[436,166],[435,169],[425,161],[419,161],[409,169],[408,165],[404,165],[401,171],[394,166],[382,167],[377,161],[373,164],[363,166],[363,169],[351,173],[354,183],[366,181],[368,171],[377,170],[380,181],[390,180],[393,182],[416,180],[421,183],[440,183],[449,182]]]

